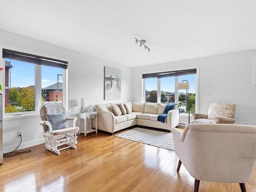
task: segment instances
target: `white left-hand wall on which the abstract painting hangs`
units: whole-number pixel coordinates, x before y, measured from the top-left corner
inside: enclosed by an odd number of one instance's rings
[[[81,54],[46,42],[0,30],[0,47],[39,54],[69,61],[69,115],[79,111],[77,101],[86,98],[88,104],[126,102],[132,99],[132,68],[96,57]],[[121,100],[104,100],[104,66],[122,70]],[[39,115],[4,118],[4,152],[14,149],[19,142],[17,131],[23,131],[20,148],[44,142]]]

